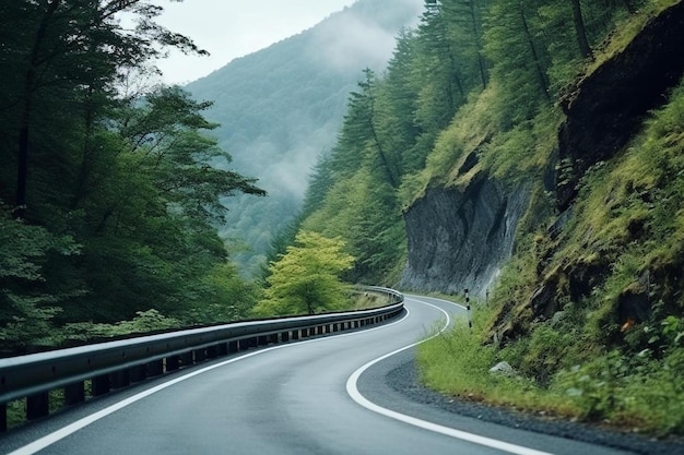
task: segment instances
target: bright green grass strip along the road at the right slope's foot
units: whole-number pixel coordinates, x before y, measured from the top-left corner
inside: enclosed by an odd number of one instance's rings
[[[542,385],[519,372],[490,372],[500,361],[517,370],[528,351],[483,343],[493,311],[480,307],[473,312],[472,331],[459,321],[450,332],[420,346],[418,367],[426,386],[459,399],[552,418],[600,422],[656,436],[684,434],[684,349],[671,350],[664,359],[599,354],[573,368],[559,368]]]

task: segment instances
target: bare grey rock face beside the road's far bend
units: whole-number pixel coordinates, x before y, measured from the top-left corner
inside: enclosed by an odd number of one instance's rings
[[[485,173],[463,190],[429,190],[405,213],[409,258],[400,286],[484,297],[512,251],[528,190],[505,192]]]

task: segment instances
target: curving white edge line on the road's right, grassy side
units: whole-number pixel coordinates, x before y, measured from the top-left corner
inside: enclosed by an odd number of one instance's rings
[[[425,342],[427,342],[429,339],[435,338],[436,336],[439,336],[450,325],[451,318],[449,316],[449,313],[447,313],[441,308],[439,308],[437,306],[434,306],[432,303],[427,303],[427,302],[421,301],[421,300],[416,300],[416,299],[411,299],[411,300],[414,300],[414,301],[416,301],[418,303],[422,303],[422,304],[426,304],[426,306],[433,307],[433,308],[441,311],[446,315],[447,322],[445,323],[444,327],[436,335],[433,335],[432,337],[429,337],[427,339],[424,339],[422,342],[414,343],[412,345],[409,345],[409,346],[405,346],[403,348],[397,349],[397,350],[394,350],[392,352],[386,354],[382,357],[378,357],[377,359],[369,361],[368,363],[366,363],[363,367],[361,367],[358,370],[354,371],[354,373],[346,381],[346,393],[352,397],[352,399],[354,402],[356,402],[357,404],[359,404],[361,406],[363,406],[366,409],[369,409],[369,410],[372,410],[374,412],[380,414],[382,416],[389,417],[389,418],[394,419],[394,420],[402,421],[404,423],[409,423],[409,424],[414,426],[414,427],[422,428],[424,430],[429,430],[429,431],[433,431],[433,432],[436,432],[436,433],[445,434],[447,436],[456,438],[456,439],[459,439],[461,441],[472,442],[474,444],[484,445],[484,446],[492,447],[492,448],[497,448],[499,451],[504,451],[504,452],[508,452],[508,453],[517,454],[517,455],[551,455],[547,452],[540,452],[540,451],[535,451],[533,448],[528,448],[528,447],[523,447],[523,446],[520,446],[520,445],[510,444],[510,443],[507,443],[507,442],[504,442],[504,441],[498,441],[498,440],[494,440],[494,439],[491,439],[491,438],[480,436],[477,434],[468,433],[465,431],[456,430],[453,428],[444,427],[444,426],[440,426],[440,424],[437,424],[437,423],[428,422],[426,420],[417,419],[415,417],[406,416],[406,415],[403,415],[403,414],[400,414],[400,412],[397,412],[397,411],[384,408],[381,406],[378,406],[375,403],[368,400],[365,396],[363,396],[361,394],[361,392],[358,392],[358,387],[357,387],[358,378],[361,378],[361,375],[364,373],[364,371],[366,371],[367,369],[369,369],[374,364],[376,364],[376,363],[387,359],[388,357],[391,357],[391,356],[393,356],[396,354],[399,354],[401,351],[404,351],[406,349],[411,349],[414,346],[417,346],[417,345],[420,345],[422,343],[425,343]],[[451,303],[451,302],[448,302],[448,303]],[[461,306],[457,304],[457,307],[461,307]]]

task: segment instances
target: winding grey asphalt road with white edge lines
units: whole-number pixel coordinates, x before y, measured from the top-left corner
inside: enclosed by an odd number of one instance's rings
[[[423,297],[406,296],[405,307],[401,320],[379,327],[241,352],[91,400],[10,432],[0,453],[624,453],[403,402],[385,372],[464,316]]]

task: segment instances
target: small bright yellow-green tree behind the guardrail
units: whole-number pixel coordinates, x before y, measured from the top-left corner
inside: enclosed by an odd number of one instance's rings
[[[339,276],[354,258],[344,241],[300,231],[295,244],[270,266],[269,287],[255,311],[259,315],[315,314],[344,309],[349,286]]]

